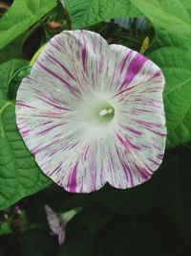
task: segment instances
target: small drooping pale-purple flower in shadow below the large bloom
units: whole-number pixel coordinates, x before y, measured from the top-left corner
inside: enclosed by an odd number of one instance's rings
[[[58,236],[58,244],[64,244],[66,237],[66,224],[74,218],[77,211],[71,210],[64,214],[57,214],[49,205],[45,205],[47,221],[53,231],[53,235]]]

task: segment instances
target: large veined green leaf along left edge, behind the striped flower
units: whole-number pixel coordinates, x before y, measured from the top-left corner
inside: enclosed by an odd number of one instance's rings
[[[20,60],[0,66],[0,209],[51,183],[26,148],[16,127],[14,101],[8,98],[11,77],[22,66]]]

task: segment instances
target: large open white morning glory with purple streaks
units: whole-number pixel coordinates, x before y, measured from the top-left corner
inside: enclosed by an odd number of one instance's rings
[[[64,31],[19,86],[17,126],[44,174],[67,191],[131,188],[163,158],[163,87],[148,58],[94,32]]]

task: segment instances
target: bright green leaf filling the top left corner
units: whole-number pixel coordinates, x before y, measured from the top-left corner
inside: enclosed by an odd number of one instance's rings
[[[55,0],[16,0],[0,20],[0,49],[56,6]]]

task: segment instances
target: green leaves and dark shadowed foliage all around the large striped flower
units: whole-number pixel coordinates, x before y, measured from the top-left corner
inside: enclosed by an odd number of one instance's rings
[[[10,243],[15,246],[16,255],[24,256],[122,256],[127,252],[132,256],[188,255],[191,0],[66,0],[65,4],[68,11],[60,4],[56,6],[56,1],[15,0],[0,19],[0,209],[4,209],[0,214],[0,255],[15,255]],[[67,29],[69,16],[73,29],[90,29],[109,43],[136,50],[148,36],[151,44],[144,55],[164,73],[168,129],[165,158],[152,179],[134,189],[119,191],[106,185],[91,195],[63,191],[42,174],[17,130],[15,96],[21,80],[30,72],[26,58],[31,59],[51,36]],[[129,29],[113,20],[139,16],[147,18],[143,32],[138,31],[137,18]],[[37,44],[35,38],[39,38]],[[5,61],[13,57],[20,59]],[[15,214],[11,206],[21,198],[19,204],[25,218]],[[59,248],[49,235],[46,203],[58,212],[82,207],[67,225],[66,244]]]

